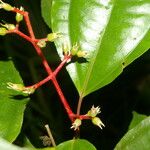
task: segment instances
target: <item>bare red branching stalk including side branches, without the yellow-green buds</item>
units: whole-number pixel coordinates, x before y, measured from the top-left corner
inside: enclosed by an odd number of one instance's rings
[[[40,40],[45,40],[47,41],[47,38],[43,38],[43,39],[36,39],[35,38],[35,35],[34,35],[34,32],[33,32],[33,28],[32,28],[32,25],[31,25],[31,21],[30,21],[30,18],[29,18],[29,14],[28,12],[26,11],[22,11],[22,10],[19,10],[18,8],[14,8],[12,10],[13,12],[15,13],[19,13],[21,15],[24,16],[24,20],[25,20],[25,23],[26,23],[26,26],[27,26],[27,29],[28,29],[28,32],[29,32],[29,36],[28,35],[25,35],[24,33],[22,33],[20,30],[19,30],[19,24],[16,25],[16,28],[14,30],[9,30],[7,31],[7,33],[15,33],[15,34],[18,34],[19,36],[21,36],[22,38],[26,39],[27,41],[29,41],[33,47],[35,48],[37,54],[39,55],[39,57],[41,58],[42,60],[42,63],[43,63],[43,66],[46,70],[46,72],[48,73],[48,77],[46,77],[45,79],[43,79],[42,81],[32,85],[32,86],[28,86],[27,88],[30,88],[30,87],[34,87],[35,89],[42,86],[43,84],[45,84],[46,82],[48,82],[49,80],[52,80],[54,86],[55,86],[55,89],[60,97],[60,100],[65,108],[65,110],[67,111],[67,114],[70,118],[70,120],[72,122],[74,122],[74,120],[76,118],[79,118],[81,120],[83,119],[91,119],[91,117],[87,116],[87,115],[79,115],[79,114],[74,114],[71,107],[69,106],[58,82],[57,82],[57,79],[56,79],[56,75],[58,74],[58,72],[62,69],[62,67],[67,63],[67,61],[69,59],[71,59],[71,55],[66,55],[64,56],[64,60],[59,64],[59,66],[56,68],[55,71],[52,71],[51,67],[49,66],[41,48],[37,45],[38,41]]]

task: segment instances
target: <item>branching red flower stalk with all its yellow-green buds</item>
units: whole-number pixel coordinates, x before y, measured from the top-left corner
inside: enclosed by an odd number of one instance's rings
[[[9,33],[15,33],[21,37],[23,37],[24,39],[26,39],[27,41],[29,41],[33,47],[35,48],[37,54],[39,55],[39,57],[41,57],[42,59],[42,63],[43,66],[46,70],[46,72],[48,73],[48,77],[46,77],[45,79],[43,79],[42,81],[32,85],[32,86],[28,86],[25,87],[22,84],[14,84],[11,82],[7,83],[7,88],[9,89],[13,89],[15,91],[18,92],[22,92],[24,94],[32,94],[35,92],[35,90],[42,86],[43,84],[45,84],[46,82],[48,82],[49,80],[52,80],[56,91],[58,92],[59,96],[60,96],[60,100],[64,105],[64,108],[66,109],[68,116],[70,118],[71,121],[73,121],[71,128],[74,130],[78,130],[79,127],[82,124],[82,120],[84,119],[89,119],[92,121],[92,123],[94,125],[97,125],[98,127],[100,127],[102,129],[102,127],[105,127],[105,125],[103,124],[103,122],[101,121],[101,119],[99,117],[97,117],[98,114],[101,113],[100,111],[100,107],[94,107],[92,106],[91,109],[87,112],[87,114],[85,115],[78,115],[78,114],[74,114],[72,109],[70,108],[66,98],[63,95],[63,92],[57,82],[56,79],[56,75],[57,73],[61,70],[61,68],[68,62],[71,60],[72,57],[77,57],[77,58],[87,58],[87,52],[84,50],[80,49],[80,46],[76,43],[74,45],[69,46],[69,44],[65,43],[62,45],[62,52],[64,55],[64,59],[62,60],[62,62],[60,63],[60,65],[56,68],[55,71],[52,71],[51,67],[49,66],[41,48],[46,47],[46,42],[54,42],[57,38],[62,37],[61,33],[49,33],[47,34],[46,38],[42,38],[42,39],[37,39],[35,38],[33,29],[32,29],[32,25],[29,19],[29,15],[27,11],[24,11],[23,7],[19,8],[15,8],[12,7],[11,5],[4,3],[2,0],[0,0],[0,9],[4,9],[6,11],[12,11],[16,13],[16,24],[8,24],[8,23],[4,23],[4,24],[0,24],[0,35],[4,36],[6,34]],[[29,35],[24,34],[23,32],[21,32],[19,30],[19,23],[24,19]],[[47,138],[43,138],[43,140],[45,141],[45,143],[47,144],[48,139]]]

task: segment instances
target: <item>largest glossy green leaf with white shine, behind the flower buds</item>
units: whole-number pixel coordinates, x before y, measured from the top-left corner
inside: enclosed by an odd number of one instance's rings
[[[148,50],[149,10],[149,0],[52,1],[45,20],[50,17],[53,32],[64,35],[55,42],[60,57],[64,42],[88,52],[87,62],[67,66],[81,98],[112,82]]]

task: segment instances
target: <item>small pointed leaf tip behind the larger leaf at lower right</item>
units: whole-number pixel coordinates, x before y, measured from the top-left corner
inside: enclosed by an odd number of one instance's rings
[[[138,114],[137,112],[133,112],[133,118],[129,126],[129,130],[134,128],[138,123],[140,123],[142,120],[144,120],[147,116]]]

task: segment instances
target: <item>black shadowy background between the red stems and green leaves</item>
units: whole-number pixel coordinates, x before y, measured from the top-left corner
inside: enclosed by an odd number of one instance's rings
[[[46,37],[47,33],[51,32],[41,17],[40,0],[5,2],[16,7],[23,6],[30,12],[37,38]],[[12,13],[0,10],[0,20],[14,23],[14,17]],[[21,23],[21,30],[26,33],[24,23]],[[54,70],[60,63],[54,44],[48,44],[43,52]],[[31,85],[46,77],[41,60],[37,57],[32,45],[16,35],[0,37],[0,59],[7,60],[10,56],[25,85]],[[78,93],[66,70],[63,69],[57,78],[69,104],[76,111]],[[100,106],[102,113],[99,117],[106,127],[100,130],[90,121],[84,121],[80,138],[89,140],[97,149],[112,150],[127,132],[133,111],[150,114],[149,91],[150,52],[148,51],[129,65],[111,84],[85,98],[82,113],[86,113],[93,104]],[[45,124],[49,124],[57,144],[74,136],[74,132],[70,129],[70,120],[51,82],[42,86],[31,96],[25,111],[22,132],[15,144],[23,146],[27,137],[35,147],[43,147],[39,137],[46,135]]]

